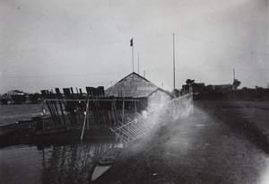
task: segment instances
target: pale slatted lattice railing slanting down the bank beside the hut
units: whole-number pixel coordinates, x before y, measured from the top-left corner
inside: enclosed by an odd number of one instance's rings
[[[116,134],[117,140],[127,143],[146,135],[153,127],[164,125],[171,119],[187,117],[193,112],[193,95],[190,93],[161,104],[155,110],[145,111],[143,115],[136,113],[134,119],[128,118],[125,125],[120,124],[111,130]]]

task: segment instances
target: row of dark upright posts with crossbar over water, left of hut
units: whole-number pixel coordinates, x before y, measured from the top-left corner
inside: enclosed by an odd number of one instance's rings
[[[86,87],[87,93],[74,93],[64,88],[61,93],[41,91],[55,125],[71,125],[89,129],[92,126],[117,126],[123,121],[125,111],[135,113],[140,109],[138,100],[124,97],[105,97],[103,88]]]

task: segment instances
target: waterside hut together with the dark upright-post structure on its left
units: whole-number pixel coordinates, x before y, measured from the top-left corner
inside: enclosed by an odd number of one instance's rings
[[[64,88],[64,93],[58,88],[56,93],[41,91],[54,122],[53,130],[56,127],[57,131],[62,127],[65,130],[87,130],[117,126],[119,122],[122,124],[134,116],[135,112],[153,110],[174,98],[171,93],[135,73],[127,75],[107,90],[99,86],[86,87],[86,91],[82,93],[81,89],[76,89],[74,92],[73,88]],[[52,131],[51,125],[44,126],[40,134]]]

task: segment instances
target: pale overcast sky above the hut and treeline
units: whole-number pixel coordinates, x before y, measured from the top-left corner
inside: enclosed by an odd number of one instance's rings
[[[267,87],[267,0],[0,0],[0,94],[104,86]],[[130,39],[134,40],[134,57]],[[139,65],[138,65],[139,64]]]

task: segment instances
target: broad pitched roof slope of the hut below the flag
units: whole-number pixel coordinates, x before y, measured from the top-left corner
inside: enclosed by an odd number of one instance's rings
[[[159,87],[143,76],[132,73],[105,90],[106,96],[146,97]]]

